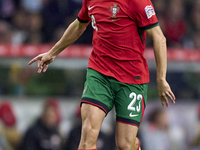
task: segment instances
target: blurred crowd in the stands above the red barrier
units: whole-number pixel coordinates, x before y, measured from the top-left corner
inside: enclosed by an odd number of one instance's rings
[[[152,0],[169,47],[200,49],[200,0]],[[0,0],[0,43],[55,43],[82,0]],[[91,44],[92,28],[77,43]],[[152,46],[147,40],[147,46]]]

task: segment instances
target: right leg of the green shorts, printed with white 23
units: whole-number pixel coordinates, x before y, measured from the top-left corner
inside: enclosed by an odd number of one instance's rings
[[[139,127],[147,102],[147,84],[123,84],[115,97],[116,121]]]

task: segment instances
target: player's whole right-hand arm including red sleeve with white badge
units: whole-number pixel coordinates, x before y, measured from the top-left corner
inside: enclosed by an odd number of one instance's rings
[[[167,72],[167,46],[166,38],[158,24],[158,19],[154,11],[151,0],[134,0],[131,1],[132,6],[130,16],[137,25],[144,30],[153,40],[154,54],[156,59],[156,73],[158,92],[162,102],[162,106],[169,106],[168,97],[175,103],[175,96],[166,81]]]

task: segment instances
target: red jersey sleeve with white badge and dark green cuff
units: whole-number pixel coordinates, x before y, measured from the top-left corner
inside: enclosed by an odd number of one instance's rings
[[[142,30],[151,29],[159,25],[150,0],[134,0],[131,6],[130,16]]]

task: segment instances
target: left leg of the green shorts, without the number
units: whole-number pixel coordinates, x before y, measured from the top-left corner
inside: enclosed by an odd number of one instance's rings
[[[87,69],[81,103],[97,106],[107,114],[114,105],[114,93],[108,77],[93,69]]]

